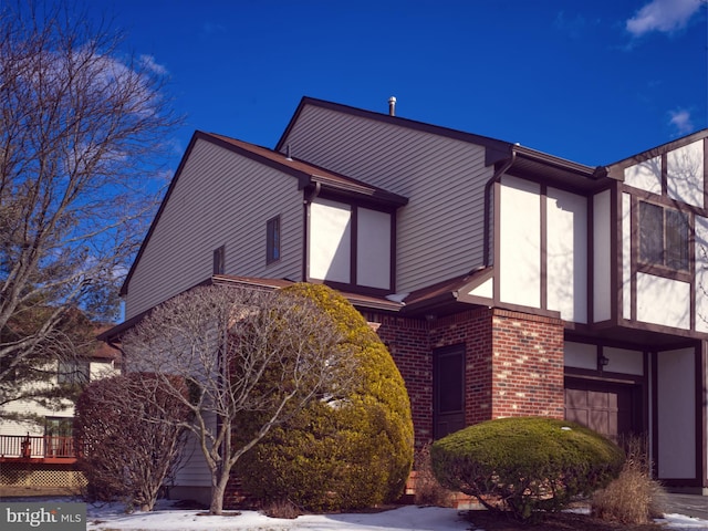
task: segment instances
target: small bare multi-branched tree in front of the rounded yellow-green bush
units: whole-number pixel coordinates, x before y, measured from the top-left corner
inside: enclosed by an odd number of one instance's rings
[[[346,396],[356,374],[330,316],[287,291],[194,289],[156,308],[123,347],[129,366],[195,386],[186,427],[211,472],[212,514],[221,513],[230,471],[246,451],[310,400]],[[260,414],[259,426],[237,439],[246,412]]]

